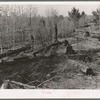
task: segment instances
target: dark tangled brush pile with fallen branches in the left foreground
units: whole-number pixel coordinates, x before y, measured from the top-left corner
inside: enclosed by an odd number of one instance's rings
[[[64,47],[65,42],[57,42],[45,48],[33,51],[33,57],[24,53],[12,56],[13,60],[1,62],[2,89],[35,89],[47,80],[57,77],[56,64],[59,63],[57,50]],[[14,52],[14,51],[13,51]],[[22,51],[21,51],[22,52]],[[11,58],[11,56],[8,56]],[[7,67],[8,66],[8,67]],[[5,67],[5,68],[4,68]],[[15,74],[16,73],[16,74]]]

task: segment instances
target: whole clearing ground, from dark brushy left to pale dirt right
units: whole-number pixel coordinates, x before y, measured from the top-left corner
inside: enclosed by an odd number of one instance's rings
[[[90,37],[79,41],[75,38],[67,40],[72,44],[77,54],[65,55],[66,48],[60,48],[57,51],[58,55],[42,60],[39,58],[34,63],[32,59],[14,64],[0,64],[0,84],[4,78],[43,89],[99,89],[100,43],[97,39]],[[83,51],[89,51],[92,62],[77,59],[77,55]],[[70,60],[93,68],[97,75],[87,76],[83,74],[78,65],[72,64]]]

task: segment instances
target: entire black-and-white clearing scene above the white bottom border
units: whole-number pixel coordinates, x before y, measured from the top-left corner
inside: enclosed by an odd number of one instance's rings
[[[1,89],[100,89],[100,2],[0,2]]]

